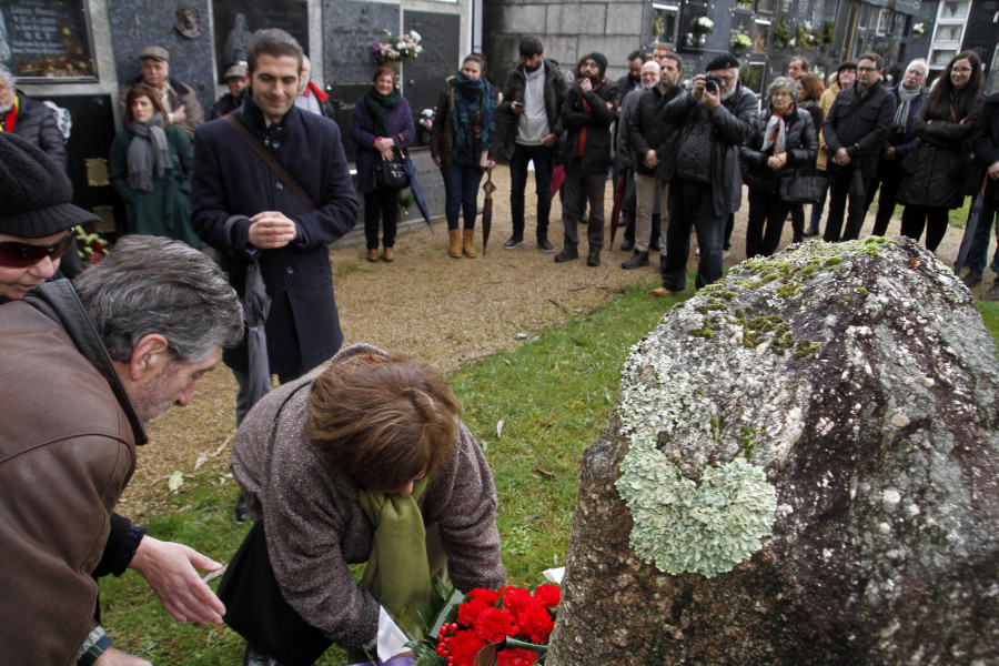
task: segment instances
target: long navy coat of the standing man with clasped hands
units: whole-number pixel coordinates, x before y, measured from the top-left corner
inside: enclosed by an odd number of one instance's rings
[[[301,373],[330,359],[343,342],[333,297],[327,245],[357,221],[340,129],[332,120],[292,108],[284,119],[264,127],[263,114],[244,95],[232,112],[265,143],[317,205],[310,211],[223,119],[194,133],[191,222],[203,241],[222,253],[222,268],[243,294],[246,268],[260,261],[272,300],[268,316],[271,372]],[[280,211],[295,221],[299,238],[278,250],[260,250],[248,241],[249,218]],[[248,371],[245,343],[226,350],[230,367]]]

